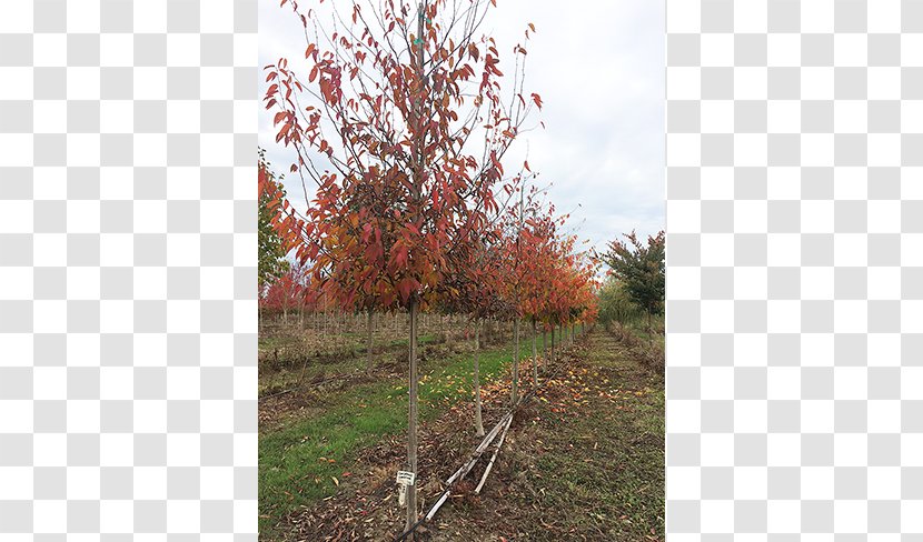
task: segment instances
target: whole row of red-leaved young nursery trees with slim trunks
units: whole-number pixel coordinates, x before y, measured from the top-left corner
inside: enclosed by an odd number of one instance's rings
[[[505,74],[479,30],[495,0],[286,4],[304,26],[305,53],[266,67],[265,106],[277,142],[297,157],[288,185],[300,184],[304,204],[260,153],[261,291],[271,299],[281,275],[289,282],[276,288],[297,289],[307,307],[407,314],[407,470],[416,473],[421,311],[466,315],[476,340],[485,319],[514,322],[510,404],[520,338],[530,334],[535,353],[538,330],[596,315],[594,261],[563,233],[567,217],[544,199],[528,162],[510,165],[513,143],[540,124],[529,118],[542,99],[524,90],[535,28]]]

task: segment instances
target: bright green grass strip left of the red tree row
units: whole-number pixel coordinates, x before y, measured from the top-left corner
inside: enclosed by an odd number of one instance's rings
[[[512,345],[482,351],[482,382],[489,382],[512,359]],[[474,397],[473,362],[473,354],[466,353],[421,364],[421,419],[437,413],[446,402]],[[279,518],[333,494],[337,489],[333,476],[340,479],[350,470],[358,450],[386,434],[406,431],[406,397],[405,381],[358,385],[328,398],[322,413],[260,434],[259,526],[264,536],[271,536]]]

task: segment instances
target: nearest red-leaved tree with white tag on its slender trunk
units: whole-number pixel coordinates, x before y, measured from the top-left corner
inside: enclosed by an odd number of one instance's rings
[[[350,2],[346,12],[327,2],[304,12],[284,0],[304,24],[305,61],[267,67],[277,141],[297,153],[291,171],[314,183],[307,211],[287,207],[277,228],[343,307],[409,313],[411,472],[418,313],[453,293],[448,254],[497,211],[504,154],[542,104],[523,90],[523,47],[502,86],[496,44],[478,31],[493,1]],[[407,489],[410,528],[416,490]]]

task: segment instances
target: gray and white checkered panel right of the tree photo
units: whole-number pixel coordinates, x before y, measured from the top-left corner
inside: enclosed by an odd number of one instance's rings
[[[671,540],[923,540],[923,1],[667,3]]]

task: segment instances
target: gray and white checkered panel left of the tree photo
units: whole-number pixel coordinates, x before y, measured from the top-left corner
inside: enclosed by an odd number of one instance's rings
[[[256,30],[3,2],[4,542],[256,540]]]

